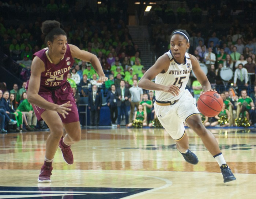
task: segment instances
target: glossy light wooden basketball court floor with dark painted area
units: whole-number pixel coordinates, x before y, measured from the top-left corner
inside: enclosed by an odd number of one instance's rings
[[[187,163],[163,129],[88,128],[72,145],[74,164],[58,149],[52,183],[37,183],[49,132],[0,134],[0,198],[255,198],[256,131],[210,129],[237,180],[223,183],[217,162],[186,129],[199,163]]]

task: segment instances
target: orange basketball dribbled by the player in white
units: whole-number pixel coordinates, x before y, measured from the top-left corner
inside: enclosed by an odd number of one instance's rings
[[[197,101],[197,109],[204,116],[217,116],[223,107],[223,100],[221,95],[214,91],[207,91],[200,95]]]

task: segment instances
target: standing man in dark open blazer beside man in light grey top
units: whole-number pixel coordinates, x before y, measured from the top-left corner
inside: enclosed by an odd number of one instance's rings
[[[120,81],[120,88],[117,88],[115,97],[117,101],[117,127],[120,127],[122,110],[125,114],[125,125],[128,126],[128,109],[130,106],[129,98],[131,98],[131,93],[128,88],[125,88],[124,80]]]

